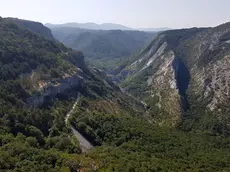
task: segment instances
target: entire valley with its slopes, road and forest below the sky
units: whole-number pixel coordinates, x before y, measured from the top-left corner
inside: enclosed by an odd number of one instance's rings
[[[0,171],[230,170],[229,23],[69,24],[0,18]]]

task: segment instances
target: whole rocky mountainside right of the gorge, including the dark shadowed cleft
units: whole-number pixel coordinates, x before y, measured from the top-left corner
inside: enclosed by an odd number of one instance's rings
[[[226,122],[229,38],[229,23],[163,32],[123,69],[131,72],[122,86],[149,105],[159,124],[176,125],[194,114],[198,120],[209,114]]]

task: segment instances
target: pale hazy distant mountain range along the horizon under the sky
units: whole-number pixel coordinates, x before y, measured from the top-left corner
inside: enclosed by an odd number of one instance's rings
[[[82,28],[82,29],[92,29],[92,30],[139,30],[139,31],[146,31],[146,32],[158,32],[158,31],[166,31],[170,30],[170,28],[163,27],[163,28],[130,28],[127,26],[123,26],[120,24],[115,23],[103,23],[103,24],[96,24],[96,23],[64,23],[64,24],[51,24],[46,23],[45,26],[49,28],[55,28],[55,27],[76,27],[76,28]]]

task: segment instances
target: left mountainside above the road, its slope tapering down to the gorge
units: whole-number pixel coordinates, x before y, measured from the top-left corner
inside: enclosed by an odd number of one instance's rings
[[[89,100],[102,100],[102,106],[109,104],[113,112],[120,108],[136,114],[133,104],[139,102],[123,94],[109,76],[87,66],[82,52],[26,28],[27,22],[37,28],[31,21],[0,18],[1,105],[52,107],[56,98],[63,103],[81,92]]]

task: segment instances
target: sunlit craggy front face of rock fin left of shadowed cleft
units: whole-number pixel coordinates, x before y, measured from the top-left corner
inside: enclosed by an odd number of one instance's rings
[[[151,98],[154,100],[151,103],[150,114],[155,119],[155,122],[161,125],[174,126],[180,120],[181,100],[178,85],[178,70],[175,70],[174,52],[169,51],[159,57],[163,60],[157,68],[156,72],[147,80],[150,87]]]

